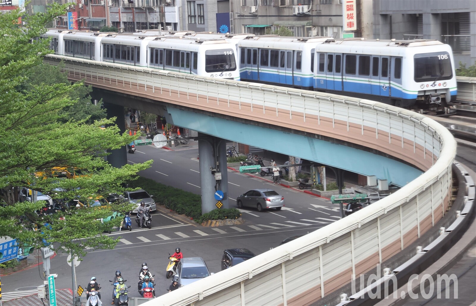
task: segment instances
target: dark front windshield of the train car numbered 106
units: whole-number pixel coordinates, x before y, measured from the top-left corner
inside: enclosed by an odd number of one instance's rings
[[[414,57],[415,82],[433,82],[453,77],[448,52],[416,54]]]

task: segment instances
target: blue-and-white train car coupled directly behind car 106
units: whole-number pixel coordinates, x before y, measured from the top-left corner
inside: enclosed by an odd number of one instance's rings
[[[238,42],[242,81],[313,90],[314,53],[328,38],[246,37]]]

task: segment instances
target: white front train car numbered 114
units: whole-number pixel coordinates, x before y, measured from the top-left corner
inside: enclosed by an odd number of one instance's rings
[[[149,42],[149,67],[239,81],[234,45],[223,39],[156,37]]]

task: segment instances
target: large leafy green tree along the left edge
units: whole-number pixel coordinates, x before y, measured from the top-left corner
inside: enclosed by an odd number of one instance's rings
[[[81,96],[72,93],[84,88],[83,84],[53,83],[44,76],[39,77],[43,81],[29,81],[33,80],[30,71],[50,52],[49,40],[37,38],[46,32],[45,25],[64,14],[66,8],[54,3],[46,13],[23,16],[20,10],[12,10],[0,14],[0,236],[34,247],[43,246],[46,240],[54,243],[55,249],[82,257],[87,247],[114,248],[117,239],[101,233],[120,220],[102,223],[100,219],[113,210],[128,210],[129,205],[85,207],[40,216],[36,211],[45,203],[20,202],[19,189],[30,187],[56,199],[88,203],[109,192],[122,191],[122,183],[136,178],[151,161],[121,168],[105,162],[107,150],[122,148],[134,139],[119,134],[115,118],[91,124],[87,124],[88,117],[65,120],[65,112]],[[20,17],[25,27],[16,25]],[[107,128],[99,128],[101,125]],[[53,167],[76,167],[83,176],[60,180],[51,175]]]

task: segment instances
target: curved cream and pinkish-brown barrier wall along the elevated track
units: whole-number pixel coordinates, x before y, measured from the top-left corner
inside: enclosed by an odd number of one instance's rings
[[[153,100],[326,135],[424,173],[399,191],[301,238],[143,305],[306,305],[396,255],[448,209],[453,136],[414,112],[343,96],[50,55],[72,80]],[[358,161],[356,161],[358,163]]]

